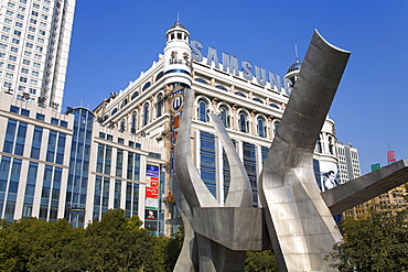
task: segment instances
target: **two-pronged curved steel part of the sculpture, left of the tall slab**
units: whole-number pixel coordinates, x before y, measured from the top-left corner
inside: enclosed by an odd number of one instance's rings
[[[191,120],[194,94],[185,89],[185,102],[175,149],[173,194],[182,215],[185,239],[175,271],[241,271],[246,250],[259,250],[262,239],[260,209],[251,207],[246,171],[217,116],[212,116],[229,162],[232,179],[225,207],[205,187],[191,155]],[[179,189],[180,188],[180,189]],[[237,220],[246,218],[246,220]],[[256,231],[256,229],[258,231]],[[254,246],[255,244],[255,246]]]

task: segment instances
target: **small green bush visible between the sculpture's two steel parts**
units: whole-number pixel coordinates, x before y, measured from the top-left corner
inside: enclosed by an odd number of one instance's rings
[[[245,272],[275,272],[279,271],[278,262],[270,250],[248,251],[245,260]]]

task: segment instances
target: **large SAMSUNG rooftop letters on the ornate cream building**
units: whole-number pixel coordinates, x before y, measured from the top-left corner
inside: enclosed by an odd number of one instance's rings
[[[203,63],[203,44],[200,41],[193,40],[191,41],[190,45],[193,59]],[[213,66],[214,63],[214,67],[219,69],[219,64],[222,64],[223,72],[238,77],[241,76],[248,81],[251,81],[255,77],[260,86],[269,85],[268,87],[279,93],[282,93],[284,90],[288,96],[290,95],[290,91],[292,89],[291,81],[289,79],[282,78],[281,80],[280,76],[272,72],[269,72],[267,77],[267,70],[265,68],[257,65],[254,66],[248,61],[243,61],[239,65],[238,58],[227,53],[222,53],[222,63],[219,63],[217,50],[214,47],[208,46],[206,58],[207,61],[205,64],[208,66]],[[241,72],[241,75],[239,74],[239,72]],[[282,85],[284,87],[282,87]]]

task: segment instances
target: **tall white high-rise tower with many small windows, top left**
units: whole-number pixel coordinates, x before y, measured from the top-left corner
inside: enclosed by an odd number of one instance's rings
[[[75,0],[0,0],[0,88],[61,109]]]

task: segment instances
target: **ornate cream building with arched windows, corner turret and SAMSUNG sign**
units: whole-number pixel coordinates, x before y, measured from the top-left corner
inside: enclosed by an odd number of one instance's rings
[[[111,93],[93,112],[101,127],[155,139],[167,152],[168,186],[163,199],[169,199],[183,91],[194,91],[192,152],[203,182],[223,204],[229,166],[210,122],[208,113],[216,113],[243,160],[253,186],[253,204],[258,206],[257,179],[301,63],[290,65],[281,77],[248,61],[219,54],[214,47],[204,48],[200,41],[190,41],[190,32],[180,23],[172,25],[165,37],[159,59],[127,88]],[[314,154],[320,186],[320,171],[333,170],[337,175],[334,131],[334,121],[328,118]],[[175,216],[176,210],[170,205],[165,218]]]

